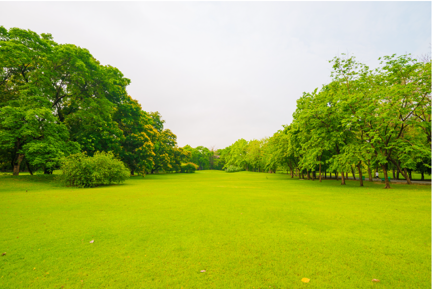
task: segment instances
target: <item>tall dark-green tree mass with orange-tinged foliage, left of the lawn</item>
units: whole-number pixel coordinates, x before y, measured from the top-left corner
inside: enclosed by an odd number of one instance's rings
[[[87,49],[0,27],[0,165],[52,173],[62,158],[113,152],[131,174],[180,171],[189,152],[126,92],[130,83]]]

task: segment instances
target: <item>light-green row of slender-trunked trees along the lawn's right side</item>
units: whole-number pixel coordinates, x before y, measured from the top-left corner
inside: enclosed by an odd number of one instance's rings
[[[380,168],[411,184],[411,172],[431,174],[431,59],[380,58],[370,69],[344,54],[332,63],[331,82],[304,93],[290,125],[261,140],[239,139],[219,150],[225,167],[291,171],[308,179],[334,173],[355,178]]]

